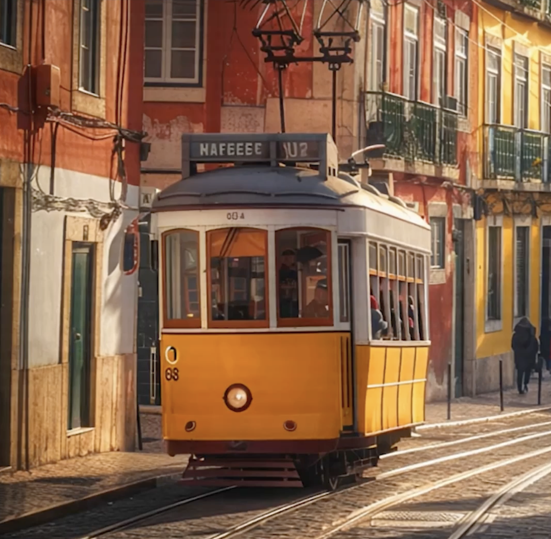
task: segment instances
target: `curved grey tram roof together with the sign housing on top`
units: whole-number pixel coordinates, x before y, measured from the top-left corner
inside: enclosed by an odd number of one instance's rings
[[[235,139],[235,140],[234,140]],[[198,145],[255,144],[256,141],[269,142],[306,140],[318,142],[320,159],[318,170],[297,166],[285,166],[282,160],[274,162],[275,144],[272,144],[272,155],[266,156],[264,163],[256,160],[250,164],[237,164],[207,172],[191,174],[198,162],[236,162],[236,157],[221,159],[219,156],[199,155]],[[338,173],[336,146],[331,135],[327,134],[256,134],[255,135],[221,135],[221,134],[186,134],[182,146],[182,179],[161,191],[153,201],[152,212],[207,209],[215,207],[311,207],[342,209],[347,207],[364,207],[372,211],[386,213],[392,217],[428,228],[422,217],[409,210],[396,197],[382,195],[370,185],[360,184],[350,175]],[[225,142],[220,142],[224,140]],[[186,147],[187,144],[187,147]],[[195,157],[194,148],[195,144]],[[299,142],[300,144],[300,142]],[[235,146],[234,146],[235,147]],[[245,148],[245,146],[241,146]],[[309,158],[315,156],[310,156]],[[241,160],[243,161],[243,160]],[[244,160],[246,161],[246,160]],[[300,159],[299,159],[300,161]],[[290,163],[287,161],[288,164]],[[338,177],[335,175],[338,174]],[[187,177],[186,177],[187,176]]]

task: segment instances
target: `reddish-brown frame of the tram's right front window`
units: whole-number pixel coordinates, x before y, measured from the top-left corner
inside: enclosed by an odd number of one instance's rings
[[[283,233],[289,233],[289,232],[295,232],[296,233],[296,242],[294,249],[300,249],[296,245],[300,243],[300,238],[304,234],[325,234],[325,243],[326,243],[326,259],[327,259],[327,268],[325,273],[325,279],[327,282],[327,317],[318,317],[318,318],[303,318],[301,316],[298,317],[288,317],[288,318],[282,318],[280,316],[280,301],[279,301],[279,294],[280,294],[280,283],[279,283],[279,268],[282,263],[282,256],[284,256],[283,250],[289,249],[284,248],[280,244],[280,235]],[[302,234],[301,234],[302,233]],[[276,313],[277,313],[277,327],[332,327],[334,326],[334,302],[333,302],[333,260],[332,260],[332,241],[333,241],[333,235],[331,233],[331,230],[328,230],[326,228],[319,228],[319,227],[288,227],[288,228],[279,228],[274,232],[274,245],[276,248]],[[303,247],[306,247],[307,245],[304,245]],[[337,268],[338,269],[338,268]],[[299,271],[302,272],[303,270],[299,270],[297,268],[297,287],[299,295],[301,294],[300,284],[301,277],[299,274]],[[320,279],[322,281],[323,279]],[[304,308],[304,307],[302,307]],[[299,300],[299,309],[300,309],[300,300]],[[299,312],[300,315],[300,312]]]

